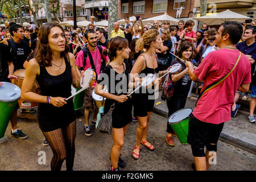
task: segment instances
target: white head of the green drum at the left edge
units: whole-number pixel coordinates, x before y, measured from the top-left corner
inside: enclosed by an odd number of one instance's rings
[[[0,101],[11,102],[20,98],[20,88],[9,82],[2,82],[0,86]]]

